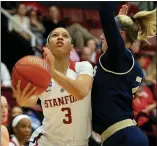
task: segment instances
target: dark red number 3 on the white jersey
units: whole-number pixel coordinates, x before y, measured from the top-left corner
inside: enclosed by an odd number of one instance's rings
[[[71,117],[71,109],[69,107],[65,107],[61,109],[62,112],[66,112],[65,117],[66,119],[63,119],[64,124],[71,124],[72,123],[72,117]]]

